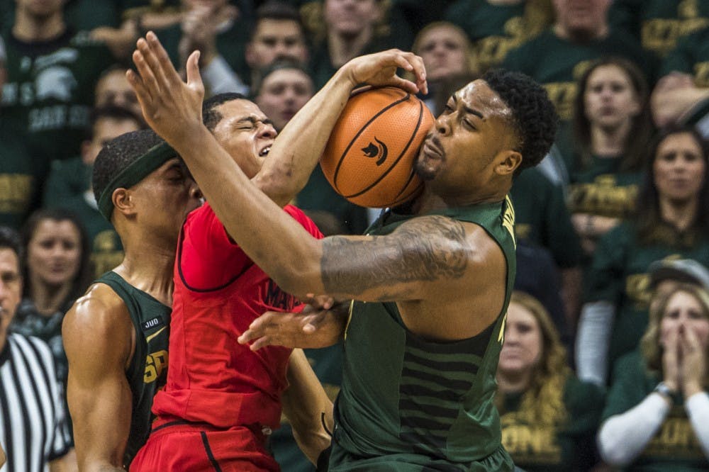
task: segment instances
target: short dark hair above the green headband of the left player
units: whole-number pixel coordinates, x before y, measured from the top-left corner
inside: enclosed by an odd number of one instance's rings
[[[151,147],[162,142],[164,142],[162,137],[150,129],[124,133],[108,142],[96,156],[94,162],[91,186],[94,188],[96,201],[99,201],[101,193],[104,193],[108,184],[111,184],[111,181],[121,174],[125,167],[132,164]]]

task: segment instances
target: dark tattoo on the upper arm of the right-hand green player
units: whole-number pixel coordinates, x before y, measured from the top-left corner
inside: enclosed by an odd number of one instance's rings
[[[469,249],[463,225],[445,216],[420,218],[370,240],[328,237],[320,262],[323,284],[328,293],[345,288],[357,294],[400,282],[459,279]]]

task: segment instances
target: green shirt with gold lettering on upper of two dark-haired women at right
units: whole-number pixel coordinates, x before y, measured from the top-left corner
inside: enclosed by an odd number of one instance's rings
[[[635,210],[638,186],[643,173],[621,172],[621,159],[591,156],[588,167],[567,162],[569,211],[609,218],[627,218]]]

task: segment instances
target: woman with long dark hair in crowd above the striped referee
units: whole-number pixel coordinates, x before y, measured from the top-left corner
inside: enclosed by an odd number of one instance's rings
[[[57,379],[65,386],[68,366],[62,320],[89,285],[89,242],[74,213],[60,208],[35,211],[23,227],[22,238],[24,293],[10,329],[49,344]]]

